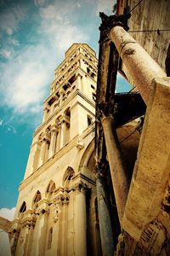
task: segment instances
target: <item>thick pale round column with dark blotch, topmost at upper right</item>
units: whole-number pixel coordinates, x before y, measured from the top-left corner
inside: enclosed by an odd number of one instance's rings
[[[127,79],[138,88],[147,104],[150,92],[153,90],[152,80],[157,77],[166,77],[166,73],[122,26],[114,26],[109,38],[116,45],[127,68]]]

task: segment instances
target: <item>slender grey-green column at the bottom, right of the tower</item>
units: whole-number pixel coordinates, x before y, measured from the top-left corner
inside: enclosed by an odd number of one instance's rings
[[[114,241],[111,229],[111,217],[107,205],[107,195],[105,193],[105,177],[97,173],[96,190],[99,209],[99,231],[101,237],[101,247],[103,256],[114,255]]]

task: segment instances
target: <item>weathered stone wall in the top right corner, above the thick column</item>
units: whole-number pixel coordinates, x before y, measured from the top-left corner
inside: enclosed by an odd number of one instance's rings
[[[130,9],[133,9],[139,0],[130,0]],[[170,44],[170,4],[167,0],[146,0],[131,12],[129,20],[129,32],[139,44],[165,69],[165,59],[167,48]],[[151,31],[160,30],[160,32],[133,32],[133,31]]]

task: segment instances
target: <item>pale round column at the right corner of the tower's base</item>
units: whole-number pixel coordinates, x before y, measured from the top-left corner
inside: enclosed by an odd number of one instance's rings
[[[75,187],[74,248],[76,256],[87,255],[86,190],[82,183]]]

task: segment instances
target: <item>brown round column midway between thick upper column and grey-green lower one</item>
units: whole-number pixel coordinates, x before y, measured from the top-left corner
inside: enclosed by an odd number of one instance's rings
[[[116,137],[113,119],[111,116],[108,116],[103,118],[101,123],[105,135],[105,144],[111,170],[111,180],[113,183],[117,212],[121,223],[127,202],[129,178],[122,160],[122,151]]]

